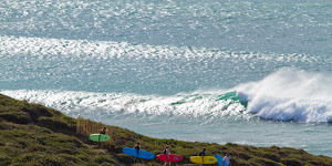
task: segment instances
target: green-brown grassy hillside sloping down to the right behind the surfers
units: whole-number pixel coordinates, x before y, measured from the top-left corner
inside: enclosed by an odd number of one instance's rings
[[[207,155],[231,154],[234,166],[332,165],[332,158],[302,149],[156,139],[116,126],[108,126],[113,133],[111,148],[100,151],[86,136],[76,134],[75,128],[76,120],[59,111],[0,94],[0,165],[132,165],[133,158],[123,154],[122,148],[132,147],[137,141],[143,149],[154,154],[170,145],[172,153],[184,157],[177,165],[194,165],[189,157],[203,147]],[[144,165],[160,164],[157,159],[144,160]]]

